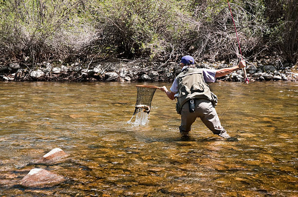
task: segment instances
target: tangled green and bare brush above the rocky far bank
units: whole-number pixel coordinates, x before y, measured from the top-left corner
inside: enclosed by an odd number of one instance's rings
[[[296,0],[230,0],[245,59],[298,59]],[[240,57],[226,0],[0,0],[0,63]]]

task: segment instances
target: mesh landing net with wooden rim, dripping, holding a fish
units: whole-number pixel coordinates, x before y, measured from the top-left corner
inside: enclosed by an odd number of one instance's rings
[[[140,110],[143,110],[143,112],[147,112],[147,114],[149,114],[154,93],[159,87],[154,85],[136,85],[136,88],[137,100],[133,115],[138,113]]]

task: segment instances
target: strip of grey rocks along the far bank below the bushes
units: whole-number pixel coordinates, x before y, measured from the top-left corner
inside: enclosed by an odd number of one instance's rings
[[[226,63],[197,63],[198,68],[220,69],[236,65],[237,61]],[[91,62],[88,65],[73,64],[37,64],[34,68],[12,62],[0,66],[0,81],[173,81],[181,72],[176,62],[148,62],[147,60],[128,61],[112,59],[109,62]],[[293,63],[261,59],[247,63],[249,81],[293,81],[298,79],[298,66]],[[220,80],[243,82],[244,72],[238,70]]]

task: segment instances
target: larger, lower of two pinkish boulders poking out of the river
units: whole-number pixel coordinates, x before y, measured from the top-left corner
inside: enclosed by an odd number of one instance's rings
[[[64,177],[41,168],[34,168],[19,182],[25,187],[52,187],[64,181]]]

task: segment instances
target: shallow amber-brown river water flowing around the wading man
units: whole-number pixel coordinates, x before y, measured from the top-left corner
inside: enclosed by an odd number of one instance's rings
[[[147,124],[128,124],[136,84],[1,82],[0,196],[298,196],[297,82],[210,84],[234,141],[200,120],[181,136],[175,101],[160,90]],[[53,148],[69,156],[32,163]],[[19,186],[35,167],[66,181]]]

